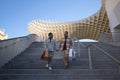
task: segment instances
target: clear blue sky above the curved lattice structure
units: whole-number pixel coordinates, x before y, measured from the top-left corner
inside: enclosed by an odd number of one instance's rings
[[[0,0],[0,29],[9,38],[26,36],[32,20],[80,20],[100,7],[101,0]]]

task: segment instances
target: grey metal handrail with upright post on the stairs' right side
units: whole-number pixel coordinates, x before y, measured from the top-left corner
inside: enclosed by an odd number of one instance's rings
[[[102,34],[103,35],[103,34]],[[109,35],[109,37],[107,36]],[[105,41],[108,41],[109,40],[109,43],[115,43],[115,41],[113,40],[113,37],[111,33],[107,33],[107,37],[104,35],[104,37],[102,37],[103,39],[107,39]],[[120,33],[116,33],[116,35],[120,35]],[[120,38],[120,37],[119,37]],[[118,42],[120,43],[120,39],[117,39],[117,44]],[[78,39],[76,38],[76,40],[78,41]],[[79,41],[78,41],[79,42]],[[80,43],[80,42],[79,42]],[[106,43],[106,42],[105,42]],[[118,65],[118,69],[119,69],[119,72],[120,72],[120,61],[118,59],[116,59],[115,57],[113,57],[112,55],[110,55],[108,52],[106,52],[105,50],[103,50],[102,48],[98,47],[97,45],[95,44],[89,44],[89,45],[84,45],[83,43],[80,43],[80,45],[82,45],[83,47],[87,47],[88,49],[88,58],[89,58],[89,69],[93,69],[92,68],[92,57],[91,57],[91,50],[90,50],[90,46],[93,46],[93,47],[96,47],[98,50],[100,50],[104,55],[106,55],[110,60],[112,60],[113,62],[115,62],[115,64]]]

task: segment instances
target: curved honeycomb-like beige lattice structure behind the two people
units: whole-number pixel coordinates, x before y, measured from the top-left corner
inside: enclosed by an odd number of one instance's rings
[[[68,31],[71,37],[76,37],[77,39],[104,41],[104,39],[101,38],[101,34],[113,34],[113,30],[111,28],[113,26],[115,27],[115,25],[111,25],[111,8],[109,9],[109,6],[111,5],[109,2],[114,3],[114,0],[101,1],[102,6],[100,10],[88,18],[72,22],[33,20],[28,24],[29,32],[31,34],[37,34],[43,40],[47,39],[47,34],[49,32],[52,32],[54,34],[54,38],[59,41],[63,37],[64,31]],[[116,1],[117,3],[120,2],[120,0]],[[117,4],[114,4],[114,7],[115,5]],[[117,8],[117,10],[118,9],[120,8]],[[120,23],[120,21],[118,23]]]

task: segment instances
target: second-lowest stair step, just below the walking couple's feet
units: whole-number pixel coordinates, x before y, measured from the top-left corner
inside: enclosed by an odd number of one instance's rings
[[[8,74],[81,74],[81,75],[115,75],[118,74],[116,69],[2,69],[0,75]]]

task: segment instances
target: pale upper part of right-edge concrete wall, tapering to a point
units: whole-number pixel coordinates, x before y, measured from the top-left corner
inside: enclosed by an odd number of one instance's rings
[[[120,24],[120,0],[105,0],[105,8],[112,32]]]

